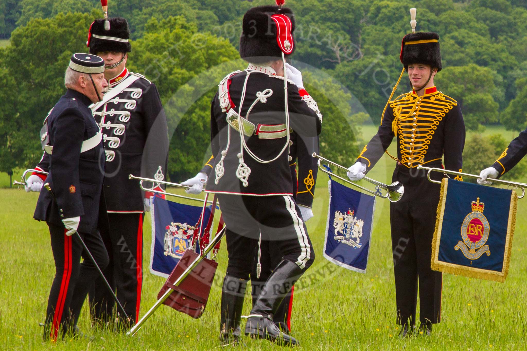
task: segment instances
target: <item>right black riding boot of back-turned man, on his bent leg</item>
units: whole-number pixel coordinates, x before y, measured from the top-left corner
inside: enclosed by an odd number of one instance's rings
[[[245,325],[245,335],[268,339],[282,345],[298,344],[295,338],[280,332],[272,319],[278,306],[302,273],[304,272],[300,267],[289,260],[282,260],[278,264],[252,306]]]

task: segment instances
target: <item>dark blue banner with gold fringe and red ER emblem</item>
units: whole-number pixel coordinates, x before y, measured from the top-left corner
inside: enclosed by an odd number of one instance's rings
[[[516,223],[514,190],[443,178],[432,269],[504,282]]]

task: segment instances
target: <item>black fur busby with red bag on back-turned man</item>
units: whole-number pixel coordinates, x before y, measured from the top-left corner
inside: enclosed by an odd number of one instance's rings
[[[243,16],[240,56],[251,63],[266,63],[294,51],[295,16],[290,8],[257,6]]]

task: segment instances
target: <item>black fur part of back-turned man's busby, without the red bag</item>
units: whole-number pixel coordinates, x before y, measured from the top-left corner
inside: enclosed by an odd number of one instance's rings
[[[278,2],[277,2],[278,3]],[[283,3],[280,2],[280,3]],[[277,43],[277,23],[271,16],[281,14],[289,18],[291,51],[294,49],[295,16],[290,8],[281,6],[257,6],[249,9],[243,16],[240,37],[240,56],[252,63],[268,62],[270,57],[281,57],[282,50]],[[287,44],[286,44],[287,45]]]

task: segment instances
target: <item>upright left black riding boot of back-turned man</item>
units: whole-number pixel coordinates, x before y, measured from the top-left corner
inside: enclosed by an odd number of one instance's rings
[[[226,275],[221,288],[220,342],[221,346],[237,344],[240,338],[240,319],[243,297],[247,288],[245,279]]]

